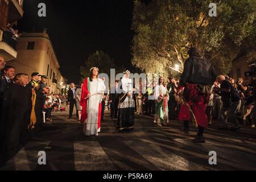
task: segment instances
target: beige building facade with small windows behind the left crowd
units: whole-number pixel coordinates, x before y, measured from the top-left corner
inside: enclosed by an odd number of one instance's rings
[[[27,49],[28,42],[35,42],[34,49]],[[17,52],[19,53],[17,59],[7,63],[15,68],[15,73],[27,73],[30,76],[31,73],[38,72],[40,75],[47,75],[47,86],[51,93],[61,92],[59,83],[52,82],[53,73],[55,73],[58,82],[61,80],[61,73],[51,41],[45,32],[40,34],[25,33],[24,37],[21,36],[18,40]]]

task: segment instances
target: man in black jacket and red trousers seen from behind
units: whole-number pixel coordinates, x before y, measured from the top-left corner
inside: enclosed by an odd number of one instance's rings
[[[191,107],[195,115],[199,133],[193,140],[195,143],[204,143],[204,129],[207,128],[207,115],[205,109],[209,100],[208,90],[216,80],[216,73],[209,60],[201,56],[200,49],[192,47],[188,51],[189,58],[185,61],[184,71],[180,77],[180,86],[177,94],[184,89],[184,99]],[[188,107],[181,105],[179,120],[184,121],[184,127],[181,130],[189,133],[188,121],[191,121],[191,114]]]

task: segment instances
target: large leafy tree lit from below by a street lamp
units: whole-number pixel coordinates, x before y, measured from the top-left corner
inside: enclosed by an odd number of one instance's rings
[[[210,17],[211,2],[152,0],[144,5],[135,0],[133,65],[145,72],[176,75],[183,72],[186,47],[193,46],[212,60],[219,73],[229,73],[242,43],[255,36],[255,3],[216,1],[217,16]]]

